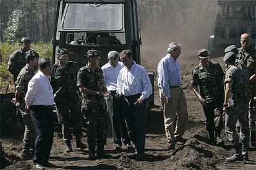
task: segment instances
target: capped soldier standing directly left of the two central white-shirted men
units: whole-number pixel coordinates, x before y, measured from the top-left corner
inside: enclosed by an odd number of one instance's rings
[[[103,71],[97,67],[101,53],[97,50],[87,52],[88,63],[77,74],[77,86],[82,93],[82,113],[87,116],[87,142],[89,158],[106,158],[104,145],[106,141],[106,119],[108,116],[104,97],[109,94],[105,86]],[[97,145],[97,155],[95,146]]]

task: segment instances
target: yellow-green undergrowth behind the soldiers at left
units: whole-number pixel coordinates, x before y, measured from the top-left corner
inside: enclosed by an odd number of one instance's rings
[[[20,48],[18,42],[9,44],[7,42],[0,42],[0,51],[2,54],[3,62],[0,63],[0,93],[4,93],[10,81],[12,81],[12,75],[7,70],[7,63],[9,60],[9,55],[12,54],[15,50]],[[52,58],[53,45],[51,43],[38,42],[36,44],[30,44],[30,48],[34,49],[40,57]],[[14,83],[11,84],[10,88],[14,92]]]

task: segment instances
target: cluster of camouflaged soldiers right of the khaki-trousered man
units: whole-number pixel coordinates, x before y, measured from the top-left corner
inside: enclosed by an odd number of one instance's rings
[[[193,70],[192,87],[203,105],[210,140],[216,144],[223,142],[224,115],[225,131],[235,148],[226,161],[248,160],[249,122],[255,119],[255,47],[250,46],[250,35],[244,33],[239,49],[232,45],[224,52],[225,74],[218,63],[208,60],[207,49],[198,51],[200,64]]]

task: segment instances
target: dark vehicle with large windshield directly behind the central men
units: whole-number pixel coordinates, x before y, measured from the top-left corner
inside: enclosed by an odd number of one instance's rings
[[[109,51],[130,49],[140,64],[140,29],[136,0],[59,0],[53,38],[53,62],[56,51],[65,48],[69,59],[85,65],[86,52],[101,52],[100,66],[108,62]],[[153,85],[153,74],[150,74]],[[153,105],[153,95],[150,96]]]

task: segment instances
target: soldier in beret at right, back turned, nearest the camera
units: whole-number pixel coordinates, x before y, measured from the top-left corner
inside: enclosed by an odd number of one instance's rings
[[[233,142],[235,154],[226,161],[242,161],[248,159],[249,147],[249,119],[247,112],[247,87],[242,79],[242,71],[234,66],[236,54],[228,52],[223,59],[227,66],[224,79],[224,103],[225,131],[228,139]],[[242,147],[239,143],[239,136],[236,131],[236,122],[239,119],[241,124]]]

